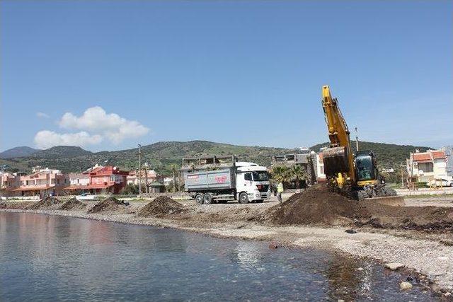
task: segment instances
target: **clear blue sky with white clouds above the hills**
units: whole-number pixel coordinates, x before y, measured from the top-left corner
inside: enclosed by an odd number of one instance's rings
[[[453,1],[0,2],[0,151],[453,144]],[[352,137],[355,133],[352,131]]]

